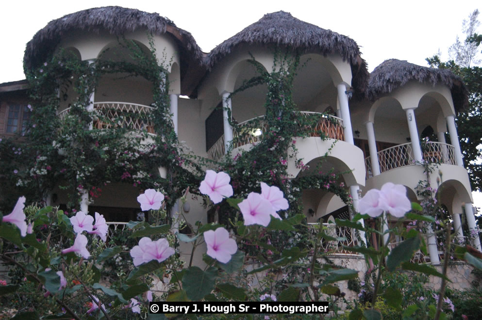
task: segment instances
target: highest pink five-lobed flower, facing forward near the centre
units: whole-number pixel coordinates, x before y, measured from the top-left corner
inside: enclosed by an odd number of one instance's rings
[[[229,184],[231,177],[225,172],[214,172],[207,170],[204,180],[201,181],[199,192],[209,196],[211,201],[219,203],[223,198],[233,195],[233,187]]]

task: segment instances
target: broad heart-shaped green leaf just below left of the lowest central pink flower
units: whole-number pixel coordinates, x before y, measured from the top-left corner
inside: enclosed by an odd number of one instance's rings
[[[183,276],[183,289],[190,300],[200,301],[213,290],[216,278],[217,269],[214,267],[206,271],[202,271],[199,267],[190,267]]]

